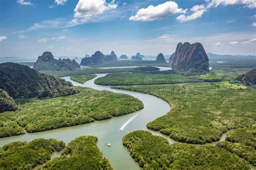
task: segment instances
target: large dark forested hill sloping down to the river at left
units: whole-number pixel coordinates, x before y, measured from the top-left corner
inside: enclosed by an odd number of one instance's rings
[[[12,98],[68,96],[78,91],[72,84],[16,63],[0,64],[0,89]]]

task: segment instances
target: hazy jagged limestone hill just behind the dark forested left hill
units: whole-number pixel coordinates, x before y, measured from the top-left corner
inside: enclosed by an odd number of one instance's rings
[[[46,51],[42,56],[39,56],[33,69],[38,71],[63,71],[76,70],[80,65],[73,59],[55,59],[51,52]]]

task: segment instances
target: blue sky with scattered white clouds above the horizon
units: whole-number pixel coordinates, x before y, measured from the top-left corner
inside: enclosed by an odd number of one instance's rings
[[[170,55],[179,42],[256,55],[255,0],[2,0],[0,57]]]

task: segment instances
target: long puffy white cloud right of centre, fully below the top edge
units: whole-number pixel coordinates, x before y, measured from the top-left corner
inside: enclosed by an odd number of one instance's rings
[[[176,13],[185,13],[186,10],[178,8],[176,2],[168,1],[157,6],[149,5],[147,8],[139,9],[136,15],[129,19],[133,21],[153,21],[156,19],[166,18]]]

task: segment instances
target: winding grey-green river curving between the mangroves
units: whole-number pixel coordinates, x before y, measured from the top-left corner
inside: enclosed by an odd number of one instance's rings
[[[160,70],[167,70],[170,67],[159,67]],[[170,105],[166,101],[149,94],[111,89],[110,86],[96,85],[95,79],[104,77],[106,74],[96,74],[97,77],[86,81],[84,84],[77,83],[76,81],[70,80],[70,77],[63,77],[67,81],[75,86],[91,87],[96,90],[109,90],[114,93],[129,94],[135,98],[141,100],[144,104],[144,108],[140,111],[123,115],[120,117],[114,117],[108,120],[95,121],[94,123],[64,127],[57,130],[37,132],[37,133],[26,133],[24,135],[18,135],[14,137],[1,138],[0,147],[13,141],[31,141],[36,138],[55,138],[57,140],[63,140],[68,144],[71,140],[82,135],[94,135],[98,137],[98,147],[103,153],[103,156],[110,160],[111,165],[114,169],[140,169],[137,162],[135,162],[127,149],[122,145],[122,137],[132,131],[136,130],[147,130],[146,124],[161,115],[166,114],[170,111]],[[158,132],[151,131],[155,135],[161,135]],[[224,138],[221,140],[225,140]],[[170,144],[173,144],[171,138],[167,137]],[[112,147],[107,147],[107,143],[110,143]],[[212,145],[212,144],[211,144]]]

